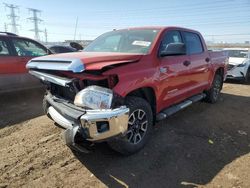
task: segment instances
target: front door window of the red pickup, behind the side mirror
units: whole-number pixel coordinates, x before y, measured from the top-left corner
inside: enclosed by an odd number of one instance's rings
[[[170,43],[182,43],[181,34],[179,31],[168,31],[165,34],[161,42],[160,52],[164,51]]]

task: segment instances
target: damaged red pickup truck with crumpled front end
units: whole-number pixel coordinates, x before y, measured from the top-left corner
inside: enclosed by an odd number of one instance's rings
[[[107,141],[140,150],[156,121],[204,99],[218,101],[227,56],[210,52],[197,31],[143,27],[105,33],[83,52],[34,58],[30,74],[47,86],[45,113],[82,152]]]

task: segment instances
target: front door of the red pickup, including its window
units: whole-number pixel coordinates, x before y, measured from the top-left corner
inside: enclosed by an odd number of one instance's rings
[[[161,41],[159,54],[170,43],[183,43],[179,31],[167,31]],[[160,102],[164,108],[186,98],[190,87],[188,79],[190,59],[188,55],[172,55],[159,57]],[[162,109],[159,107],[160,109]]]

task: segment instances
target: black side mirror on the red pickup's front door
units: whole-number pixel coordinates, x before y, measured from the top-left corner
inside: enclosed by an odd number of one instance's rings
[[[184,43],[170,43],[167,45],[165,50],[160,52],[160,56],[170,56],[170,55],[185,55],[186,45]]]

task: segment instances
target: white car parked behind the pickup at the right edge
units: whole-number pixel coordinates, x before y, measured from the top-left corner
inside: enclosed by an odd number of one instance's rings
[[[225,48],[229,64],[227,79],[239,79],[250,82],[250,48]]]

